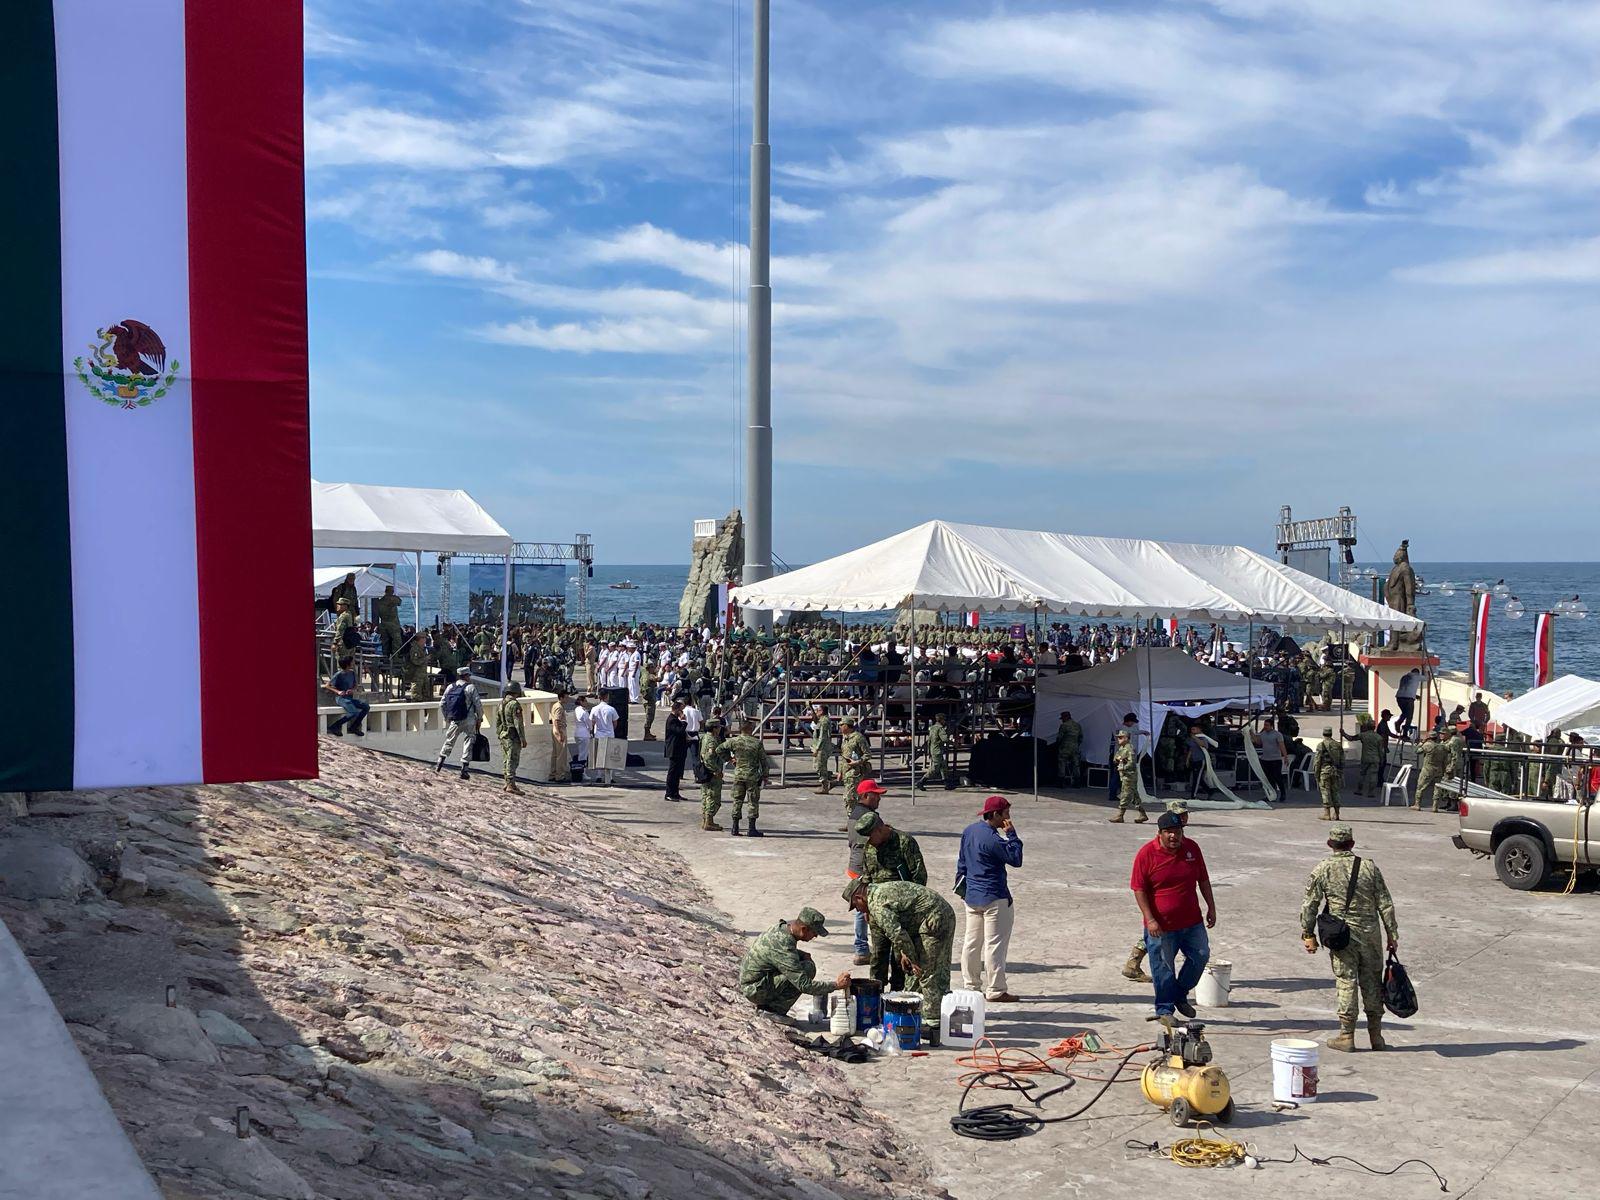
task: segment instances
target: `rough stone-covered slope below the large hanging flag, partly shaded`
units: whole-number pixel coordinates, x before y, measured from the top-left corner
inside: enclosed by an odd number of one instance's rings
[[[680,859],[554,795],[322,755],[0,818],[0,917],[168,1197],[942,1195],[738,1002]]]

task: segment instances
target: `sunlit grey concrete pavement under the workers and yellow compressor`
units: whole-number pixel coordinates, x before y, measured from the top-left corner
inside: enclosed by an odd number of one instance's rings
[[[635,742],[651,765],[658,747]],[[762,805],[768,837],[746,840],[701,832],[699,806],[662,802],[654,770],[635,773],[630,782],[571,787],[565,795],[587,813],[678,851],[750,934],[803,904],[837,914],[845,936],[811,949],[819,976],[850,966],[850,925],[838,899],[846,851],[835,832],[843,811],[837,792],[816,797],[810,787],[770,787]],[[688,779],[685,795],[698,795]],[[915,802],[906,792],[885,797],[880,811],[917,835],[930,883],[946,896],[960,830],[984,795],[963,789],[918,794]],[[1294,792],[1290,805],[1274,811],[1195,813],[1190,819],[1219,907],[1213,958],[1234,963],[1232,1003],[1200,1013],[1211,1022],[1216,1061],[1238,1104],[1230,1133],[1266,1158],[1290,1158],[1296,1146],[1318,1158],[1352,1155],[1379,1170],[1426,1158],[1458,1197],[1531,1200],[1594,1187],[1589,1118],[1600,1099],[1600,1014],[1590,989],[1600,984],[1594,950],[1600,896],[1587,882],[1565,898],[1510,891],[1488,862],[1450,845],[1454,816],[1378,808],[1371,800],[1344,808],[1357,853],[1382,867],[1394,893],[1402,958],[1418,984],[1421,1011],[1408,1021],[1386,1021],[1394,1045],[1387,1054],[1323,1048],[1320,1099],[1274,1112],[1272,1038],[1322,1042],[1336,1027],[1326,954],[1307,955],[1298,936],[1301,888],[1325,853],[1326,826],[1317,811],[1306,794]],[[726,816],[725,808],[723,824]],[[1026,843],[1024,869],[1013,874],[1018,915],[1010,970],[1022,1003],[990,1006],[989,1035],[1037,1053],[1086,1029],[1118,1046],[1139,1045],[1152,1030],[1146,1022],[1150,987],[1128,982],[1120,968],[1139,933],[1128,867],[1139,843],[1154,835],[1154,822],[1107,824],[1104,797],[1094,792],[1053,794],[1037,805],[1014,797],[1013,816]],[[1358,1043],[1365,1045],[1365,1027]],[[1078,1120],[1022,1141],[984,1144],[954,1136],[947,1125],[963,1074],[955,1051],[846,1070],[923,1149],[938,1182],[963,1200],[1144,1195],[1158,1187],[1197,1195],[1240,1189],[1262,1197],[1333,1197],[1352,1189],[1438,1195],[1438,1184],[1418,1166],[1384,1179],[1347,1163],[1184,1171],[1128,1149],[1130,1139],[1168,1146],[1181,1136],[1139,1098],[1136,1083],[1112,1085]],[[1080,1083],[1051,1101],[1045,1115],[1070,1112],[1091,1088]]]

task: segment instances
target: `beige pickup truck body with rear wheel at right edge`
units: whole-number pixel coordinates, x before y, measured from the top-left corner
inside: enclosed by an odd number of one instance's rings
[[[1517,891],[1544,886],[1558,867],[1600,870],[1600,814],[1571,800],[1466,795],[1450,838],[1459,850],[1494,859],[1501,883]]]

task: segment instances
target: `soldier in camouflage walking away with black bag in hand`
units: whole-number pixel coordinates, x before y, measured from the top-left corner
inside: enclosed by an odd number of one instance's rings
[[[1333,851],[1318,862],[1306,882],[1301,901],[1301,942],[1307,954],[1317,954],[1317,914],[1323,902],[1334,917],[1342,917],[1350,926],[1350,941],[1333,955],[1333,979],[1339,995],[1339,1035],[1328,1042],[1330,1050],[1355,1050],[1357,992],[1366,1010],[1366,1037],[1373,1050],[1387,1050],[1382,1035],[1384,1019],[1384,942],[1379,930],[1389,938],[1389,949],[1400,944],[1400,926],[1395,922],[1395,904],[1389,898],[1384,874],[1371,859],[1357,859],[1350,853],[1355,834],[1347,824],[1330,826],[1328,848]],[[1346,907],[1344,894],[1350,886],[1350,872],[1360,862],[1355,875],[1355,893]]]

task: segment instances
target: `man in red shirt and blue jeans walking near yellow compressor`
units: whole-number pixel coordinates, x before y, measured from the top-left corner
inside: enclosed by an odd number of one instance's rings
[[[1150,955],[1155,979],[1155,1014],[1173,1024],[1173,1010],[1194,1016],[1189,990],[1200,982],[1211,958],[1206,930],[1216,925],[1216,901],[1211,898],[1211,875],[1205,869],[1200,846],[1184,837],[1178,813],[1162,813],[1155,822],[1155,838],[1139,846],[1133,856],[1133,898],[1144,917],[1144,946]],[[1205,922],[1200,920],[1200,896],[1205,896]],[[1178,970],[1178,954],[1184,966]]]

